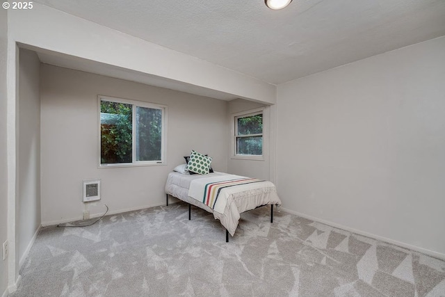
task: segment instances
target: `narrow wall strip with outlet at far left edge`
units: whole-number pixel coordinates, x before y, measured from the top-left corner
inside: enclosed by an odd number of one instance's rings
[[[8,239],[8,156],[6,152],[6,59],[8,14],[0,9],[0,250]],[[0,259],[0,294],[8,287],[8,261]]]

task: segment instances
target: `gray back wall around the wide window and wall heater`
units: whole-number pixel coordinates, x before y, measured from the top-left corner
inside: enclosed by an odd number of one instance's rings
[[[97,95],[168,106],[168,165],[98,168]],[[227,171],[227,102],[96,74],[42,65],[42,225],[81,218],[83,179],[102,179],[102,200],[90,214],[165,203],[168,172],[197,150]]]

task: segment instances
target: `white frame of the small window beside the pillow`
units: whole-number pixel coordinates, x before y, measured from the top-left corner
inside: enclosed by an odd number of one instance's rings
[[[265,156],[267,154],[267,145],[266,142],[266,136],[267,136],[267,121],[268,117],[266,115],[266,107],[261,107],[259,109],[251,109],[249,111],[242,111],[240,113],[234,113],[231,115],[232,120],[232,129],[231,129],[231,135],[232,135],[232,154],[230,156],[230,159],[241,159],[241,160],[256,160],[256,161],[265,161]],[[250,134],[245,136],[238,136],[238,118],[245,118],[252,115],[263,115],[263,133],[262,134]],[[262,136],[262,154],[237,154],[236,153],[236,138],[238,137],[251,137],[251,136]]]

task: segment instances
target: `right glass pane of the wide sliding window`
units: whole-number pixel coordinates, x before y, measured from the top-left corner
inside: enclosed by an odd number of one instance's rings
[[[136,107],[136,161],[161,161],[162,111]]]

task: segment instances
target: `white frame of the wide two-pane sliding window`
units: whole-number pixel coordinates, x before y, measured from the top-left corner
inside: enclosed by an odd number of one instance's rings
[[[132,105],[132,161],[131,163],[106,163],[102,164],[102,152],[101,152],[101,120],[100,120],[100,103],[102,101],[108,101],[108,102],[118,102],[123,104],[131,104]],[[168,106],[162,105],[162,104],[156,104],[156,103],[149,103],[149,102],[143,102],[143,101],[136,101],[131,99],[122,99],[118,97],[109,97],[104,95],[97,96],[97,106],[98,106],[98,125],[99,127],[99,141],[97,145],[98,150],[98,163],[99,168],[113,168],[113,167],[137,167],[137,166],[165,166],[167,165],[167,114],[168,114]],[[158,161],[136,161],[136,107],[145,107],[148,109],[161,109],[162,111],[162,131],[161,131],[161,160]]]

